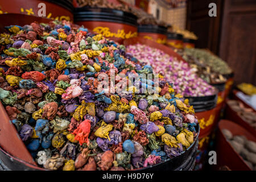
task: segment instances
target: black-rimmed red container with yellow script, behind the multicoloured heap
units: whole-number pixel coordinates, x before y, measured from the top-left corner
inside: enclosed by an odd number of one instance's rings
[[[138,35],[137,17],[125,11],[79,7],[75,10],[74,16],[77,24],[119,43]]]

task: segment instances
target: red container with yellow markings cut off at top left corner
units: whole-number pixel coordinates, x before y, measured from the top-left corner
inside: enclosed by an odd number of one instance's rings
[[[52,20],[69,20],[73,21],[73,3],[72,0],[26,0],[26,1],[1,1],[0,6],[3,13],[19,15],[31,15],[38,16],[42,13],[43,6],[39,6],[40,3],[45,4],[46,17]],[[19,19],[22,16],[19,16]]]

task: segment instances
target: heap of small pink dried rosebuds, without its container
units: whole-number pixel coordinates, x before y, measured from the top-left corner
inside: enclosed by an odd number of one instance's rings
[[[216,89],[198,77],[187,63],[159,49],[135,44],[127,46],[126,51],[132,53],[139,61],[150,64],[154,73],[159,73],[173,84],[176,93],[185,97],[211,96],[216,93]]]

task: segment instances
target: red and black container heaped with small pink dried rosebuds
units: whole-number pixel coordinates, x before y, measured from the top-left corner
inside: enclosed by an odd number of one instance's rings
[[[127,51],[142,63],[152,65],[155,73],[164,75],[166,81],[172,82],[175,92],[188,98],[189,104],[193,105],[201,127],[199,138],[212,132],[216,125],[216,89],[197,77],[189,65],[178,61],[175,55],[170,56],[159,49],[146,46],[147,44],[136,44],[136,40],[134,42],[126,45]]]

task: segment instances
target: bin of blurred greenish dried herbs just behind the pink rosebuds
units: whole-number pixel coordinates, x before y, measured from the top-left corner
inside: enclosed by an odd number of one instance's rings
[[[177,52],[189,63],[199,77],[218,89],[217,117],[215,119],[219,121],[225,97],[228,96],[228,90],[232,86],[232,78],[230,79],[226,75],[232,74],[232,69],[220,57],[205,49],[185,48]],[[226,83],[227,78],[229,83]]]

